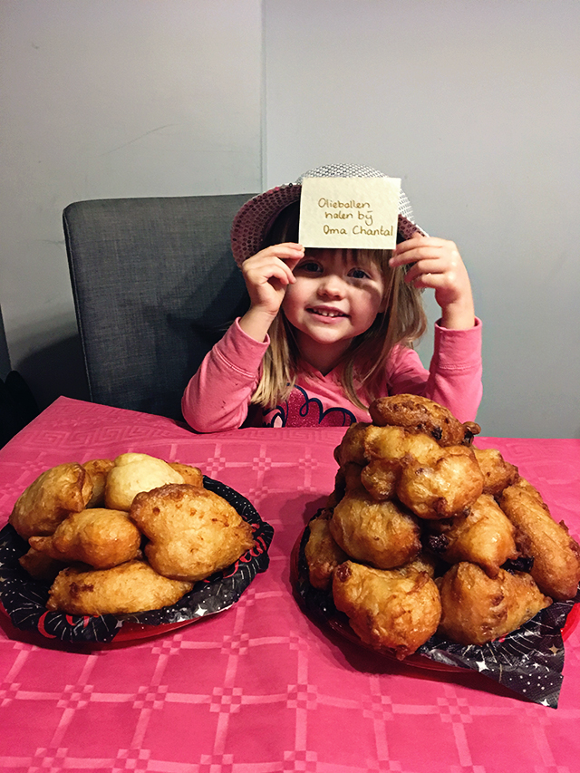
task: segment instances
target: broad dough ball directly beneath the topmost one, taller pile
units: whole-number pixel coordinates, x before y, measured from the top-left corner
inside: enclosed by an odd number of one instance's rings
[[[449,446],[433,465],[402,459],[397,496],[420,518],[467,513],[483,490],[483,475],[473,450]]]

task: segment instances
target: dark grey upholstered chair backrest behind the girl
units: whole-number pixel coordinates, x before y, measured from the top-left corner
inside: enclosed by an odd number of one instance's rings
[[[92,401],[181,418],[189,378],[247,308],[229,230],[251,196],[101,199],[64,210]]]

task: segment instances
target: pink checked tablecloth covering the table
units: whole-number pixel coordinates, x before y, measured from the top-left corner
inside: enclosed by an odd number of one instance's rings
[[[558,708],[479,675],[399,666],[312,623],[290,552],[333,487],[341,429],[198,436],[61,398],[0,450],[0,526],[45,468],[133,450],[198,465],[275,528],[270,567],[226,612],[156,639],[65,648],[0,621],[0,771],[574,773],[580,641]],[[482,438],[580,533],[580,440]],[[2,567],[0,567],[0,573]]]

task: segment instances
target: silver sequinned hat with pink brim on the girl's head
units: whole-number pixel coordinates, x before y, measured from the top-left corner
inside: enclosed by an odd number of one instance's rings
[[[266,190],[249,201],[238,211],[231,230],[232,252],[238,266],[256,255],[264,245],[264,239],[275,218],[289,204],[300,198],[302,180],[305,177],[388,177],[377,169],[357,164],[328,164],[304,172],[295,183]],[[399,241],[409,239],[415,233],[424,233],[413,222],[413,210],[409,199],[401,190],[399,198]]]

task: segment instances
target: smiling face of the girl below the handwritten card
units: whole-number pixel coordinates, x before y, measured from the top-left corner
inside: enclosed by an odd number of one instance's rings
[[[316,249],[306,250],[294,275],[282,308],[306,362],[329,372],[383,311],[382,270],[352,250]]]

